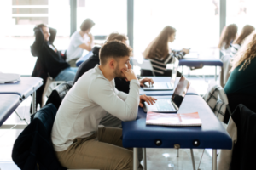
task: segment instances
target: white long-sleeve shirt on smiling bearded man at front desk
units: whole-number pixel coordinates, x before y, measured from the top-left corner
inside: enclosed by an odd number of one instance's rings
[[[67,150],[76,138],[86,138],[97,131],[106,113],[122,121],[137,117],[139,82],[131,80],[130,92],[119,92],[108,81],[99,65],[84,73],[63,99],[55,116],[51,139],[55,151]]]

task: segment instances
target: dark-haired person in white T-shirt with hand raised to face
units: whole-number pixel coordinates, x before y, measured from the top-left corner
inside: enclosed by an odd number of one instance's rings
[[[90,51],[94,46],[94,38],[90,33],[90,29],[95,23],[86,19],[80,26],[80,31],[75,31],[70,38],[67,48],[67,62],[71,67],[76,67],[76,61],[82,57],[84,49]]]

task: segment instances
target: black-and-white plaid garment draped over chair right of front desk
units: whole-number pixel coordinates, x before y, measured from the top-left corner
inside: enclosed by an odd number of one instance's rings
[[[224,122],[226,108],[230,112],[229,101],[224,89],[216,82],[210,82],[207,94],[203,96],[207,105],[212,109],[213,113],[218,117],[218,120]]]

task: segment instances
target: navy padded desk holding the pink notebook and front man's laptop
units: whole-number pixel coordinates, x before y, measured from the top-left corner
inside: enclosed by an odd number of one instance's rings
[[[156,99],[170,99],[171,96],[157,96]],[[178,113],[198,111],[201,127],[146,126],[146,113],[138,109],[137,120],[122,122],[123,145],[133,148],[134,170],[137,170],[137,148],[212,148],[212,169],[217,169],[217,149],[230,150],[232,141],[221,122],[207,103],[197,95],[186,95]],[[195,144],[195,141],[198,143]],[[176,145],[177,146],[177,145]]]

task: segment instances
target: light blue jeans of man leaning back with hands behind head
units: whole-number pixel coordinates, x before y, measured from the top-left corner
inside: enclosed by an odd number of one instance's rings
[[[55,81],[73,81],[77,71],[78,68],[68,67],[67,69],[61,71],[57,77],[55,77]]]

